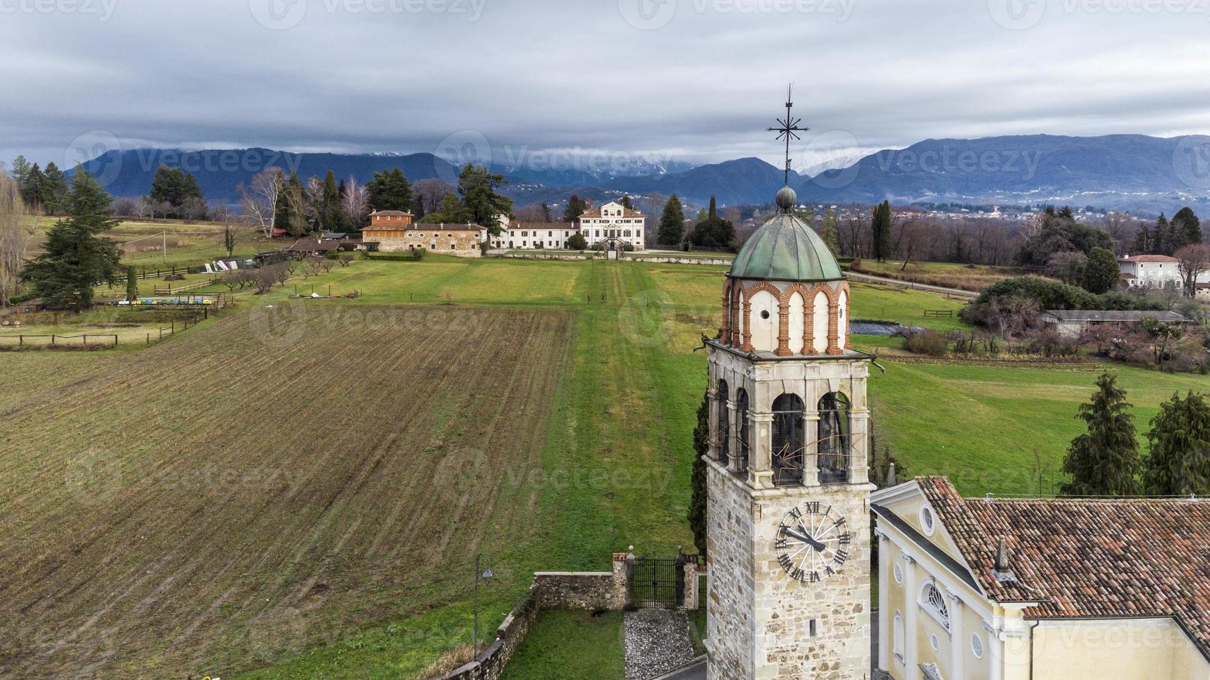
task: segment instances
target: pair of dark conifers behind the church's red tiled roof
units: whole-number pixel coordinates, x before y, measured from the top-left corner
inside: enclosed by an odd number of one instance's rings
[[[1174,394],[1151,419],[1148,455],[1139,453],[1134,415],[1117,378],[1096,380],[1077,418],[1088,431],[1072,440],[1064,460],[1071,495],[1210,494],[1210,403],[1203,395]]]

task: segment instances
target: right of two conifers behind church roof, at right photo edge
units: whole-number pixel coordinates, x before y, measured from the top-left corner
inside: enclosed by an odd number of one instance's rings
[[[1147,441],[1142,481],[1148,494],[1210,494],[1210,403],[1203,395],[1174,394],[1160,405]]]

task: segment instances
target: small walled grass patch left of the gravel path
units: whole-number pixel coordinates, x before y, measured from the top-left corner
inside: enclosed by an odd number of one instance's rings
[[[623,680],[622,612],[546,611],[505,670],[503,680]]]

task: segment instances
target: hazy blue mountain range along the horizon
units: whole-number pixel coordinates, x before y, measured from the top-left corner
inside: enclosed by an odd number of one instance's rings
[[[161,164],[197,176],[209,200],[236,203],[237,186],[269,167],[300,178],[355,176],[398,167],[413,182],[437,178],[455,184],[459,168],[432,153],[287,153],[269,149],[110,151],[85,167],[114,196],[142,196]],[[518,205],[558,203],[571,193],[603,200],[622,193],[676,193],[692,204],[714,196],[720,204],[771,202],[783,172],[760,158],[737,158],[691,167],[643,162],[621,167],[549,169],[491,165],[505,174]],[[887,149],[845,168],[814,175],[790,173],[801,202],[917,202],[1036,205],[1039,203],[1171,213],[1181,205],[1210,203],[1210,136],[1015,135],[981,139],[927,139],[906,149]],[[629,172],[629,174],[620,174]]]

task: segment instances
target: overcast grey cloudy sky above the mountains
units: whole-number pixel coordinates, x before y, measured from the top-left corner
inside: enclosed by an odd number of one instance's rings
[[[0,158],[117,144],[780,164],[764,128],[790,81],[812,128],[800,167],[940,136],[1208,133],[1208,5],[0,0]]]

